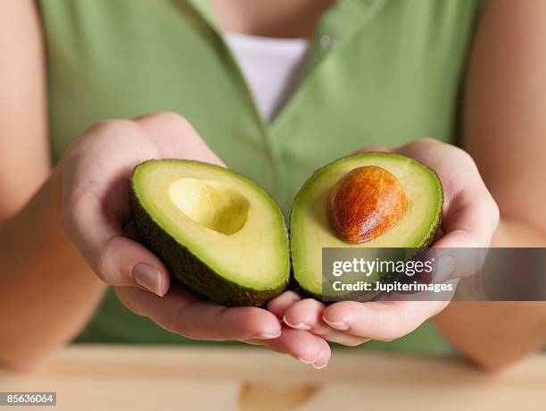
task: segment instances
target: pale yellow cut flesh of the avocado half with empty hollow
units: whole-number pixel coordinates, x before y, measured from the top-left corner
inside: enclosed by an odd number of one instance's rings
[[[252,180],[211,164],[163,160],[141,164],[133,188],[153,222],[219,276],[250,289],[286,281],[284,218]]]

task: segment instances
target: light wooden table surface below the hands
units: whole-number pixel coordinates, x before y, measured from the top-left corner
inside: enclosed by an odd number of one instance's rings
[[[265,349],[79,345],[32,373],[0,372],[0,391],[31,390],[57,392],[57,407],[31,410],[542,410],[546,356],[484,373],[342,350],[318,371]]]

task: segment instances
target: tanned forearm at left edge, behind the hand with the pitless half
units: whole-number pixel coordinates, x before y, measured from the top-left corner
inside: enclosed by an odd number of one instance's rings
[[[0,225],[0,363],[34,364],[72,339],[104,285],[62,233],[56,170],[19,214]]]

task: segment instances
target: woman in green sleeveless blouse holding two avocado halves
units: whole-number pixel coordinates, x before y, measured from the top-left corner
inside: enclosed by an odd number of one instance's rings
[[[135,164],[190,158],[251,177],[286,212],[318,166],[381,145],[374,149],[414,156],[439,172],[446,190],[441,245],[543,246],[544,2],[3,5],[5,366],[32,366],[77,336],[239,340],[316,368],[327,365],[328,341],[354,346],[407,335],[377,347],[448,352],[429,323],[419,327],[429,318],[451,347],[484,367],[542,347],[542,303],[325,307],[287,291],[267,310],[218,306],[170,284],[161,261],[130,239],[127,192]],[[267,58],[285,64],[268,71]],[[157,113],[165,111],[185,119]],[[132,120],[103,121],[109,118]]]

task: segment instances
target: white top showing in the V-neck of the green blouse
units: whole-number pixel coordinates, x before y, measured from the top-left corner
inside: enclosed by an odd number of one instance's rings
[[[270,122],[297,86],[309,40],[239,33],[227,33],[225,39],[262,118]]]

